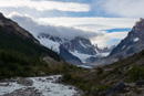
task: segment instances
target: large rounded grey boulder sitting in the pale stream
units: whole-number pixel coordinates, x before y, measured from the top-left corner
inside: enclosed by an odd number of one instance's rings
[[[17,83],[24,85],[24,86],[32,86],[33,85],[33,81],[29,79],[29,78],[19,78]]]

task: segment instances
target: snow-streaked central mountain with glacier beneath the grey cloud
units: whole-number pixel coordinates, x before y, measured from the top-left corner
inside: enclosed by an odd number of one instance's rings
[[[72,40],[39,33],[38,40],[44,46],[55,51],[71,64],[93,63],[95,58],[109,55],[112,49],[99,49],[89,39],[75,38]]]

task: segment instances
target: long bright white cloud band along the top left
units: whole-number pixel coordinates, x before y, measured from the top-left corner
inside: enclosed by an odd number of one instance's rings
[[[38,11],[59,10],[71,12],[88,12],[89,4],[47,0],[1,0],[0,8],[30,8]]]

